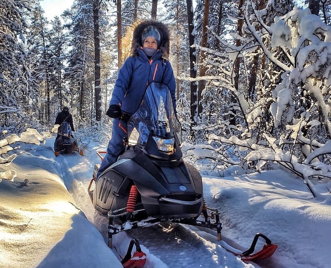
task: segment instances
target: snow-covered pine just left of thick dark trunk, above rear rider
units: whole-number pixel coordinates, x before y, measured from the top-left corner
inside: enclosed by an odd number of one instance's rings
[[[70,10],[63,13],[65,27],[69,30],[71,50],[64,78],[70,88],[73,117],[89,124],[93,113],[94,88],[94,27],[92,0],[73,2]]]

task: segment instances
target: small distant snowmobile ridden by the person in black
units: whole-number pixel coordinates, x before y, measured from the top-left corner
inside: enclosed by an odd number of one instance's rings
[[[55,156],[59,154],[69,154],[73,151],[83,156],[83,151],[79,150],[77,140],[73,137],[69,124],[64,121],[58,128],[58,137],[54,141]]]

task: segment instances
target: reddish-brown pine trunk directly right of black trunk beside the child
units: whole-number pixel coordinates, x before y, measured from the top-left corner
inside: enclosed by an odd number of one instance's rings
[[[202,47],[208,47],[207,40],[208,40],[208,34],[207,34],[207,26],[208,26],[208,18],[209,18],[209,0],[205,0],[205,6],[204,6],[204,20],[202,24],[202,36],[201,36],[201,46]],[[200,70],[199,70],[199,76],[205,76],[206,75],[206,65],[203,63],[206,59],[206,52],[201,51],[200,53]],[[202,91],[205,88],[205,80],[199,80],[198,83],[198,116],[202,113]]]

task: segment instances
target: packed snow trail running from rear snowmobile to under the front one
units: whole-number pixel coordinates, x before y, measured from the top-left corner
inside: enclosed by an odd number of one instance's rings
[[[79,208],[88,220],[103,234],[107,241],[108,221],[95,212],[87,188],[92,178],[93,168],[100,163],[95,147],[81,147],[84,156],[78,154],[61,155],[57,160],[62,165],[62,178]],[[158,225],[149,228],[120,233],[113,238],[113,244],[124,255],[130,238],[137,238],[148,255],[146,268],[178,267],[185,264],[194,267],[260,267],[255,263],[244,263],[217,244],[217,238],[204,231],[193,232],[181,225]]]

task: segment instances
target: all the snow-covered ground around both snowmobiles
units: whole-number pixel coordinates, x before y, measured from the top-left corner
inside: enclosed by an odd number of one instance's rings
[[[118,254],[107,247],[107,220],[87,193],[96,151],[91,141],[77,153],[55,157],[54,138],[25,145],[2,169],[16,170],[0,181],[0,267],[116,268]],[[24,180],[28,183],[24,185]],[[114,236],[123,255],[131,237],[147,253],[147,268],[274,267],[329,268],[331,206],[314,200],[301,179],[281,170],[225,178],[203,175],[208,207],[221,211],[222,237],[246,250],[258,232],[278,249],[272,257],[244,263],[220,247],[214,231],[184,225],[154,226]],[[329,194],[331,183],[316,186]]]

